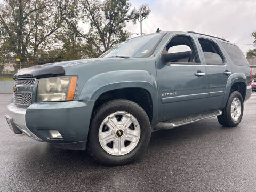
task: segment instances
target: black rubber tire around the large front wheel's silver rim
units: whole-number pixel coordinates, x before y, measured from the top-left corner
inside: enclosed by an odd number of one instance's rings
[[[131,150],[130,153],[119,156],[107,153],[107,151],[101,147],[99,141],[99,129],[101,123],[108,115],[115,113],[116,111],[125,111],[137,118],[141,131],[137,146]],[[111,100],[95,110],[90,125],[87,147],[92,157],[101,164],[124,165],[133,162],[143,153],[143,151],[145,151],[150,140],[150,135],[150,122],[145,110],[143,110],[137,103],[130,100]]]

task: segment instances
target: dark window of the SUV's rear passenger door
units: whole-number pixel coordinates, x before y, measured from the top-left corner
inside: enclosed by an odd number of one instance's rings
[[[210,39],[198,38],[206,64],[223,65],[224,59],[218,45]]]

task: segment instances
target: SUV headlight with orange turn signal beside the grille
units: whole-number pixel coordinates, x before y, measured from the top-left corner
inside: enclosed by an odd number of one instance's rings
[[[36,101],[72,101],[76,84],[77,76],[41,78],[37,87]]]

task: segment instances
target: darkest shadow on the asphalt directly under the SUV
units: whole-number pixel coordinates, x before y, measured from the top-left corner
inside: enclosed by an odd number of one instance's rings
[[[209,139],[210,135],[218,131],[223,134],[225,132],[230,132],[229,129],[223,129],[222,126],[217,124],[218,122],[211,123],[214,126],[208,126],[209,121],[217,121],[217,119],[208,119],[207,121],[201,121],[193,123],[190,125],[185,125],[177,127],[170,130],[160,130],[155,131],[151,134],[151,140],[149,147],[146,151],[146,155],[139,157],[135,162],[143,162],[145,160],[149,161],[152,156],[155,156],[161,150],[175,150],[177,147],[182,147],[188,143],[193,143],[198,140]],[[239,129],[235,127],[234,129]],[[233,130],[234,130],[233,129]],[[37,164],[38,161],[43,165],[47,164],[49,166],[78,166],[78,167],[102,167],[102,165],[92,159],[89,152],[79,151],[79,150],[66,150],[55,148],[49,143],[35,143],[35,149],[33,147],[27,151],[25,158],[28,159],[27,162],[32,164]],[[40,149],[39,149],[40,148]],[[39,152],[37,154],[37,152]],[[147,156],[147,154],[150,154]],[[34,159],[33,159],[34,157]]]

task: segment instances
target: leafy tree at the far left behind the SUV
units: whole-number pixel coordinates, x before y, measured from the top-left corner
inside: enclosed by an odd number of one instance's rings
[[[2,45],[21,61],[34,63],[39,46],[61,26],[55,5],[50,0],[4,0],[0,6]]]

